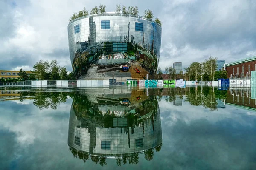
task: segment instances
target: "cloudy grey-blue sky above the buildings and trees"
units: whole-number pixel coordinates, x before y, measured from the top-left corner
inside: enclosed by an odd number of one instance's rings
[[[0,0],[0,69],[32,69],[39,59],[57,59],[72,70],[67,23],[75,11],[100,3],[151,9],[163,23],[159,66],[202,62],[209,56],[232,62],[256,55],[254,0]],[[114,5],[113,5],[114,4]]]

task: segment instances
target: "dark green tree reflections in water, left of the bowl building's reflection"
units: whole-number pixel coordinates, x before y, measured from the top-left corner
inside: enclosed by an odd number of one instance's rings
[[[25,99],[33,100],[33,104],[42,109],[57,109],[58,105],[65,103],[68,97],[73,98],[75,92],[48,92],[42,89],[36,91],[21,91],[20,102]]]

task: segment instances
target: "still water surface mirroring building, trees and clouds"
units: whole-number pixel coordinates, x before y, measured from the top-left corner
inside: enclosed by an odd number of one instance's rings
[[[0,91],[3,170],[256,169],[250,89]]]

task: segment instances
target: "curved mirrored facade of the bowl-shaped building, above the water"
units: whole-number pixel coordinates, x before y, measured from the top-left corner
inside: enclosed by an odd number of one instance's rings
[[[144,17],[94,14],[68,25],[70,59],[81,80],[153,79],[161,47],[161,26]],[[113,79],[114,74],[114,79]]]

